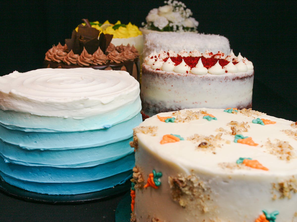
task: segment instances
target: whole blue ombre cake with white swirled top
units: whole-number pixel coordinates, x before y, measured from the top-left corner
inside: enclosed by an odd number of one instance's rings
[[[39,69],[0,77],[0,174],[42,194],[81,194],[132,175],[142,122],[139,83],[124,71]]]

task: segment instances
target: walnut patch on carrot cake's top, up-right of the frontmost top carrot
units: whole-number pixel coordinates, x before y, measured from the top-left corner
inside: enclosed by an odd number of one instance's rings
[[[268,139],[265,144],[270,154],[277,156],[280,160],[289,161],[296,158],[293,147],[287,141],[281,141],[279,139],[275,139],[275,141],[275,143],[272,143],[270,139]]]

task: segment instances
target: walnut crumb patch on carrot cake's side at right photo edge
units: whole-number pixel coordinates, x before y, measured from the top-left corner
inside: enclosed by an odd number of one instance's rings
[[[294,176],[291,176],[291,178],[287,179],[286,181],[279,182],[277,184],[272,183],[272,199],[276,200],[276,194],[275,191],[279,192],[279,199],[283,199],[287,197],[290,199],[292,197],[292,194],[297,193],[297,180]]]

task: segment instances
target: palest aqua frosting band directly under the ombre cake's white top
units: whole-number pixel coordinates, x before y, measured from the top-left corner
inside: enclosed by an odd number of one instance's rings
[[[141,110],[140,98],[125,106],[84,119],[38,116],[11,110],[0,110],[0,125],[28,132],[74,132],[108,128],[133,118]]]

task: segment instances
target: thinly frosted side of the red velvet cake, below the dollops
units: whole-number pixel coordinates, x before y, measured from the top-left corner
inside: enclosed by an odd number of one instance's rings
[[[152,116],[161,110],[249,107],[252,103],[253,79],[253,70],[222,75],[194,75],[153,70],[143,63],[140,91],[142,109],[146,115]]]

